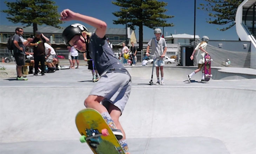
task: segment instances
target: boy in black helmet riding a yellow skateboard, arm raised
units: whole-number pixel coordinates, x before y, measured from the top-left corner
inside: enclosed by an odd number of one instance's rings
[[[85,99],[85,106],[99,111],[126,154],[129,153],[126,136],[119,122],[131,91],[131,76],[106,41],[107,24],[99,19],[75,13],[69,9],[61,12],[62,21],[78,20],[96,28],[87,42],[88,30],[81,24],[73,24],[64,29],[62,38],[66,45],[74,46],[80,52],[89,52],[100,79]],[[82,33],[86,31],[86,33]],[[102,102],[102,105],[100,104]]]

